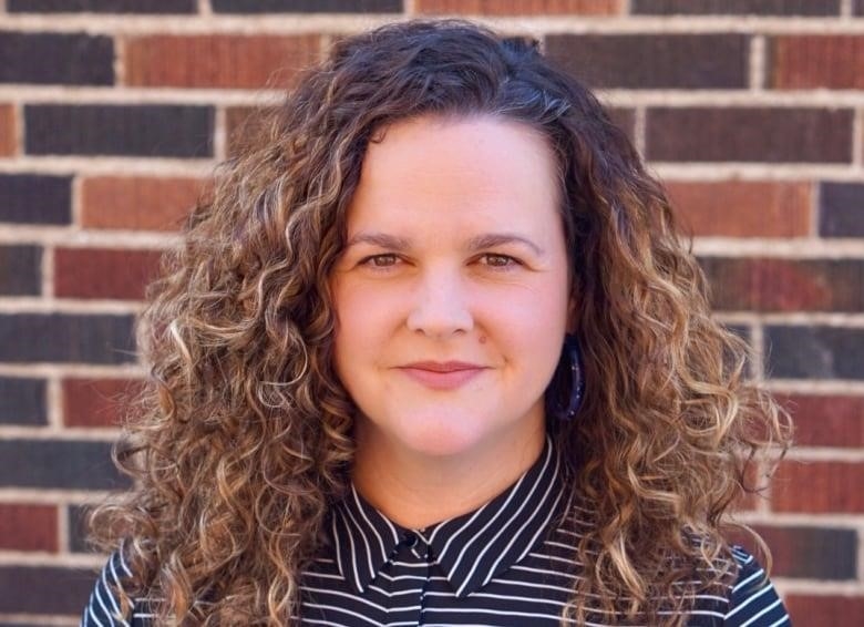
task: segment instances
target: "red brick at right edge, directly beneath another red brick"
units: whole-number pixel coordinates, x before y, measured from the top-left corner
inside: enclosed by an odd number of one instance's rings
[[[864,513],[864,463],[802,462],[780,464],[771,487],[776,512]]]

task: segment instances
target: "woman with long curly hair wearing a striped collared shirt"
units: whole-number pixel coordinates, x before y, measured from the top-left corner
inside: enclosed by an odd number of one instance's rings
[[[536,47],[340,41],[154,288],[83,624],[786,625],[722,535],[782,415],[704,294]]]

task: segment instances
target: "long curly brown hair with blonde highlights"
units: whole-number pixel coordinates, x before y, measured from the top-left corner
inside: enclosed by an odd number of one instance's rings
[[[785,450],[788,417],[747,381],[747,345],[712,320],[661,185],[597,99],[536,42],[461,20],[339,40],[219,167],[151,286],[150,377],[115,448],[135,485],[94,512],[96,542],[123,541],[160,623],[299,614],[354,446],[328,282],[369,142],[420,115],[507,119],[552,146],[588,387],[548,429],[594,512],[562,618],[586,620],[593,595],[679,624],[681,582],[734,573],[727,513],[760,451]]]

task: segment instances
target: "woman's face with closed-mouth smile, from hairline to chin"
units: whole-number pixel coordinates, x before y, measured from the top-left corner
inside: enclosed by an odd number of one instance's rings
[[[527,125],[422,116],[370,144],[332,276],[361,446],[488,453],[543,433],[572,305],[557,206]]]

